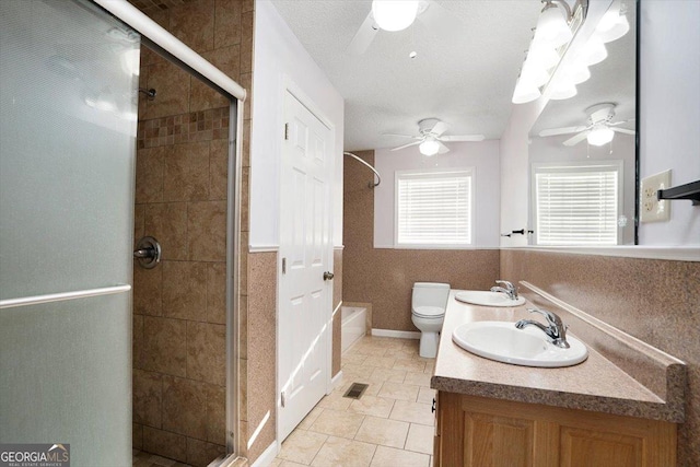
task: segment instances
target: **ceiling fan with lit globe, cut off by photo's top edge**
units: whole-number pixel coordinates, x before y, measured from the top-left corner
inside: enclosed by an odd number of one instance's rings
[[[373,0],[372,10],[360,25],[346,51],[362,55],[370,47],[380,30],[396,32],[413,24],[419,17],[431,28],[439,31],[454,17],[440,4],[430,0]]]

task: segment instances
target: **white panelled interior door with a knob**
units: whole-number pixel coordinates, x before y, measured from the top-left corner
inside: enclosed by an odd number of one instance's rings
[[[332,132],[289,91],[282,143],[279,439],[326,393],[331,331],[330,180]]]

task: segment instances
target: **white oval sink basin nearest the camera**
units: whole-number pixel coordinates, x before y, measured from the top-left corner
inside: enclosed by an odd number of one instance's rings
[[[455,328],[452,340],[477,355],[523,366],[571,366],[588,357],[585,346],[574,337],[567,337],[571,347],[562,349],[540,329],[517,329],[510,322],[467,323]]]

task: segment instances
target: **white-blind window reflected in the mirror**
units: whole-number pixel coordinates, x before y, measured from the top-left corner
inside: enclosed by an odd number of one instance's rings
[[[533,164],[537,245],[617,245],[622,161]]]

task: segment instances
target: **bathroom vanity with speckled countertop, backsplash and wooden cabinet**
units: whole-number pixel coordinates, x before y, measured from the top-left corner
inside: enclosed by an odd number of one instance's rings
[[[465,304],[454,299],[459,291],[451,292],[431,380],[438,389],[433,465],[675,466],[685,364],[532,290],[514,308]],[[465,323],[532,318],[526,307],[560,314],[588,347],[587,360],[560,369],[517,366],[471,354],[451,339]]]

